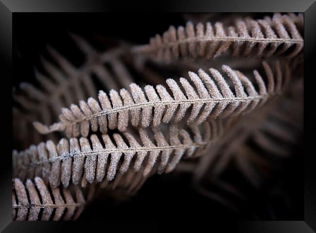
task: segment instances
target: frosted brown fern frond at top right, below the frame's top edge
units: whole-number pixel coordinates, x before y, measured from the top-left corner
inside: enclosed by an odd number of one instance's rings
[[[274,14],[272,18],[254,20],[237,19],[234,26],[224,27],[221,22],[214,26],[210,22],[195,26],[188,22],[186,27],[177,29],[170,26],[162,36],[156,35],[148,45],[135,46],[135,54],[147,54],[158,61],[170,62],[179,57],[216,58],[231,49],[232,56],[256,55],[268,57],[285,53],[295,45],[288,54],[294,57],[303,49],[303,36],[298,31],[302,28],[302,16],[294,14]]]

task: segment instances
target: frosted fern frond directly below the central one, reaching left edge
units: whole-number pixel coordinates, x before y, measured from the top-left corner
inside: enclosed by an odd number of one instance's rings
[[[22,180],[40,176],[52,187],[60,183],[67,187],[70,180],[83,186],[87,181],[108,183],[117,173],[124,174],[128,169],[139,171],[141,166],[145,177],[156,163],[158,173],[171,172],[183,156],[191,158],[203,154],[223,132],[221,121],[207,121],[201,128],[192,125],[190,134],[173,124],[167,136],[158,127],[152,127],[149,132],[140,128],[137,135],[140,142],[128,132],[103,134],[101,142],[95,134],[79,140],[62,139],[57,145],[48,141],[25,151],[14,150],[13,171]]]

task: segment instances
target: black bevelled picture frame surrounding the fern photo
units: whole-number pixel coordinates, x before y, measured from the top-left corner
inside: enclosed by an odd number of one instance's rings
[[[158,5],[154,5],[148,1],[140,6],[130,3],[115,3],[102,0],[0,0],[0,51],[1,51],[1,63],[4,65],[3,79],[6,82],[10,80],[8,77],[12,77],[12,18],[19,12],[107,12],[107,11],[167,11],[167,12],[304,12],[304,73],[306,75],[304,79],[304,105],[307,105],[307,94],[312,89],[312,85],[307,85],[312,79],[315,80],[312,73],[312,65],[315,64],[312,61],[312,55],[315,54],[315,41],[316,41],[316,2],[315,0],[221,0],[221,1],[174,1],[170,0],[165,4],[160,2]],[[314,65],[315,66],[315,65]],[[4,78],[5,77],[5,78]],[[309,80],[308,80],[309,79]],[[9,85],[10,82],[7,83]],[[8,92],[11,91],[11,87],[5,87]],[[9,102],[6,91],[1,93],[2,101]],[[314,104],[315,105],[315,104]],[[8,103],[8,107],[10,103]],[[1,109],[5,112],[4,109]],[[6,112],[9,112],[6,111]],[[1,114],[6,119],[2,122],[9,122],[9,114]],[[310,118],[307,118],[310,117]],[[315,119],[313,111],[308,108],[304,109],[304,124],[309,124],[309,119]],[[9,118],[9,119],[8,119]],[[6,123],[6,125],[8,125]],[[304,125],[304,126],[305,126]],[[304,127],[304,139],[313,140],[313,136],[309,135],[308,131],[313,130],[314,127]],[[306,131],[305,131],[306,130]],[[10,130],[12,131],[12,130]],[[7,139],[6,139],[7,140]],[[3,143],[4,142],[4,143]],[[7,142],[2,141],[2,148],[6,147]],[[312,143],[306,142],[305,145],[312,145]],[[10,155],[11,148],[8,147],[3,150],[3,162],[1,162],[1,185],[0,185],[0,230],[3,232],[59,232],[65,230],[66,227],[70,227],[69,223],[65,222],[15,222],[11,220],[11,167],[10,167]],[[9,154],[9,155],[8,155]],[[4,158],[6,157],[6,158]],[[315,152],[309,152],[308,149],[304,149],[304,219],[298,221],[238,221],[234,224],[225,224],[233,227],[237,232],[256,232],[256,233],[274,233],[274,232],[315,232],[316,231],[316,182],[315,182]],[[6,162],[8,161],[8,162]],[[118,219],[119,220],[119,219]],[[141,219],[140,219],[141,220]],[[155,220],[155,219],[153,219]],[[158,222],[168,221],[169,219],[156,219]],[[223,219],[225,220],[225,219]],[[209,224],[211,223],[211,220]],[[101,223],[105,224],[105,223]],[[137,223],[137,225],[140,223]],[[157,223],[155,223],[156,226]],[[187,224],[187,223],[186,223]],[[83,227],[83,225],[89,224],[71,224],[71,228]],[[106,224],[110,225],[110,224]],[[118,224],[114,223],[118,227]],[[145,227],[143,223],[142,226]],[[160,225],[159,225],[160,226]],[[134,226],[130,224],[120,224],[121,227],[127,227],[129,230],[135,230]],[[153,231],[158,230],[157,227]],[[75,231],[75,230],[73,230]]]

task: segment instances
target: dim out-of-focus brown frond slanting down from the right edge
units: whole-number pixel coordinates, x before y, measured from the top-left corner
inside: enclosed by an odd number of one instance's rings
[[[271,165],[276,165],[277,161],[282,164],[294,145],[298,144],[303,130],[303,94],[297,90],[302,87],[302,82],[296,80],[293,84],[285,96],[230,127],[221,143],[213,146],[209,155],[201,158],[195,167],[195,180],[202,179],[207,171],[210,177],[217,177],[233,161],[236,168],[256,186],[263,178],[259,170],[271,170]]]

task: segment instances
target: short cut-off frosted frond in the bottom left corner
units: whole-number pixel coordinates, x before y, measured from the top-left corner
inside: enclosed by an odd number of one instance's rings
[[[86,199],[78,186],[73,192],[65,187],[47,186],[35,177],[27,179],[25,184],[20,179],[13,179],[12,220],[48,221],[75,220],[82,213]]]

